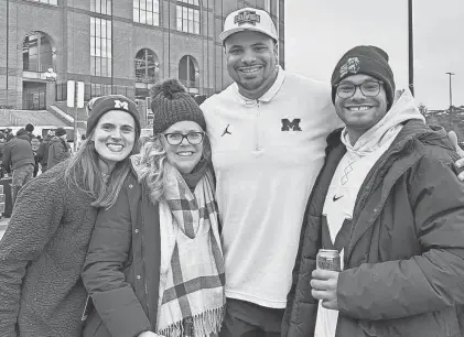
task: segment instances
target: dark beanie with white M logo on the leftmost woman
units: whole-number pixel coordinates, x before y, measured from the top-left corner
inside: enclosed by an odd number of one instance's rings
[[[122,95],[108,95],[96,97],[90,99],[87,104],[87,131],[86,134],[89,135],[90,132],[95,129],[98,123],[98,120],[104,116],[106,112],[110,110],[121,110],[130,113],[136,121],[136,131],[140,134],[140,117],[139,111],[137,110],[137,105],[131,99],[127,98]]]

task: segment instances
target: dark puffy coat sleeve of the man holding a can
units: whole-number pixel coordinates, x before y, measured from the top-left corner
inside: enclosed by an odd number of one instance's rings
[[[423,253],[343,271],[337,298],[347,316],[401,318],[464,304],[464,184],[451,163],[423,157],[413,170],[409,199]]]

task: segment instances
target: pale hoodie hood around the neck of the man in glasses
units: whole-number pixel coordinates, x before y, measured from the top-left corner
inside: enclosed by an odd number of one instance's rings
[[[349,142],[346,128],[342,132],[342,142],[346,145],[348,152],[354,152],[363,156],[377,150],[379,146],[395,138],[402,128],[402,123],[408,120],[420,120],[425,122],[424,117],[416,107],[414,98],[409,89],[400,91],[395,104],[387,111],[381,120],[373,128],[367,130],[354,145]]]

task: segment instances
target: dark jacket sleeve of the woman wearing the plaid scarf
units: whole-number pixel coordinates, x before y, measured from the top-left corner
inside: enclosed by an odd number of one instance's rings
[[[151,330],[150,320],[122,271],[132,241],[129,205],[127,191],[121,189],[115,205],[100,210],[82,273],[95,308],[112,337]]]

